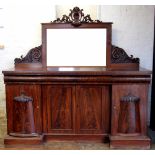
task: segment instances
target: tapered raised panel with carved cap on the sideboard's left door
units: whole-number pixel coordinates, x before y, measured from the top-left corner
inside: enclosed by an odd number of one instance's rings
[[[35,132],[33,98],[25,96],[14,97],[13,104],[13,130],[9,133],[14,137],[37,137]]]

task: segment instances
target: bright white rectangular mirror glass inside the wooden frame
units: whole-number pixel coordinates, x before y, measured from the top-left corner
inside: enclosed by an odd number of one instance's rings
[[[47,66],[106,66],[106,29],[46,29]]]

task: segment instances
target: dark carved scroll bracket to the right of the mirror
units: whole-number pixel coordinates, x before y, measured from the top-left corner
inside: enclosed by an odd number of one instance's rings
[[[129,57],[124,51],[124,49],[112,45],[111,62],[112,63],[139,63],[139,58],[134,58],[133,55]]]

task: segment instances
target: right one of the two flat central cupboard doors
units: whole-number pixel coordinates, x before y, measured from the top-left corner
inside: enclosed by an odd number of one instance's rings
[[[109,87],[81,85],[76,87],[77,132],[109,132]]]

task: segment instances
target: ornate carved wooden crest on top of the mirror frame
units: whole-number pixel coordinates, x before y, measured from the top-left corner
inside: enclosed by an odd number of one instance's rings
[[[73,10],[70,9],[69,15],[63,15],[62,18],[57,18],[52,23],[71,23],[74,26],[79,26],[82,23],[102,23],[99,20],[92,20],[90,15],[84,15],[83,9],[79,7],[74,7]]]

